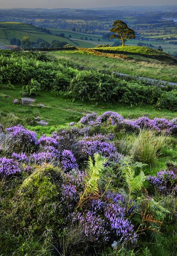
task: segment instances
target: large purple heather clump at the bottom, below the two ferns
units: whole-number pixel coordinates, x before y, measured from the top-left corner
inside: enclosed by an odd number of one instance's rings
[[[75,213],[72,221],[79,223],[88,241],[108,242],[117,237],[135,243],[137,235],[126,217],[126,204],[122,195],[109,191],[101,199],[90,201],[83,212]]]

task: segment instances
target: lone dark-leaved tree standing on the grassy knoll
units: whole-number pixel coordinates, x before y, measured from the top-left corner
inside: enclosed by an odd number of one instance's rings
[[[110,39],[121,39],[122,46],[124,46],[124,43],[127,41],[127,39],[133,39],[136,37],[134,30],[129,28],[123,21],[114,21],[112,27],[113,28],[111,28],[110,31],[114,34],[110,36]]]

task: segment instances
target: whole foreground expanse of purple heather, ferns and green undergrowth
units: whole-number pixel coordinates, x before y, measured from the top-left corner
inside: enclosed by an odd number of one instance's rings
[[[149,155],[167,154],[164,138],[175,141],[176,132],[176,119],[129,121],[111,111],[88,114],[38,140],[22,125],[2,130],[0,252],[175,255],[176,234],[168,229],[177,225],[177,166],[168,164],[156,177]],[[125,135],[127,144],[132,136],[134,142],[120,154]]]

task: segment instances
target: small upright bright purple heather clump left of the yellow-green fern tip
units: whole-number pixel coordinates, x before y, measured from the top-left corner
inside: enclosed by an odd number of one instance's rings
[[[62,169],[64,171],[77,170],[78,164],[71,150],[63,150],[62,152]]]

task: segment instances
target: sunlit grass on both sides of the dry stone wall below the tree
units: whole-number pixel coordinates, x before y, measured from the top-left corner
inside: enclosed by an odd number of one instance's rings
[[[100,48],[99,48],[100,49]],[[105,48],[109,49],[109,48]],[[112,49],[112,48],[110,48]],[[115,49],[115,48],[113,48]],[[116,49],[122,49],[118,47]],[[141,52],[147,54],[149,48],[144,47],[124,47],[125,51]],[[143,50],[143,51],[142,51]],[[150,49],[150,52],[155,50]],[[157,52],[157,54],[164,54],[162,52]],[[67,60],[72,60],[80,65],[88,65],[90,67],[96,68],[97,70],[108,70],[121,72],[125,74],[130,74],[134,76],[143,76],[156,78],[160,80],[165,80],[169,82],[177,81],[176,65],[168,65],[167,63],[162,63],[158,60],[152,60],[150,58],[145,58],[139,55],[129,55],[133,57],[132,60],[127,59],[115,59],[106,58],[102,56],[94,56],[88,52],[84,51],[58,51],[51,52],[52,56],[56,58],[65,58]]]

